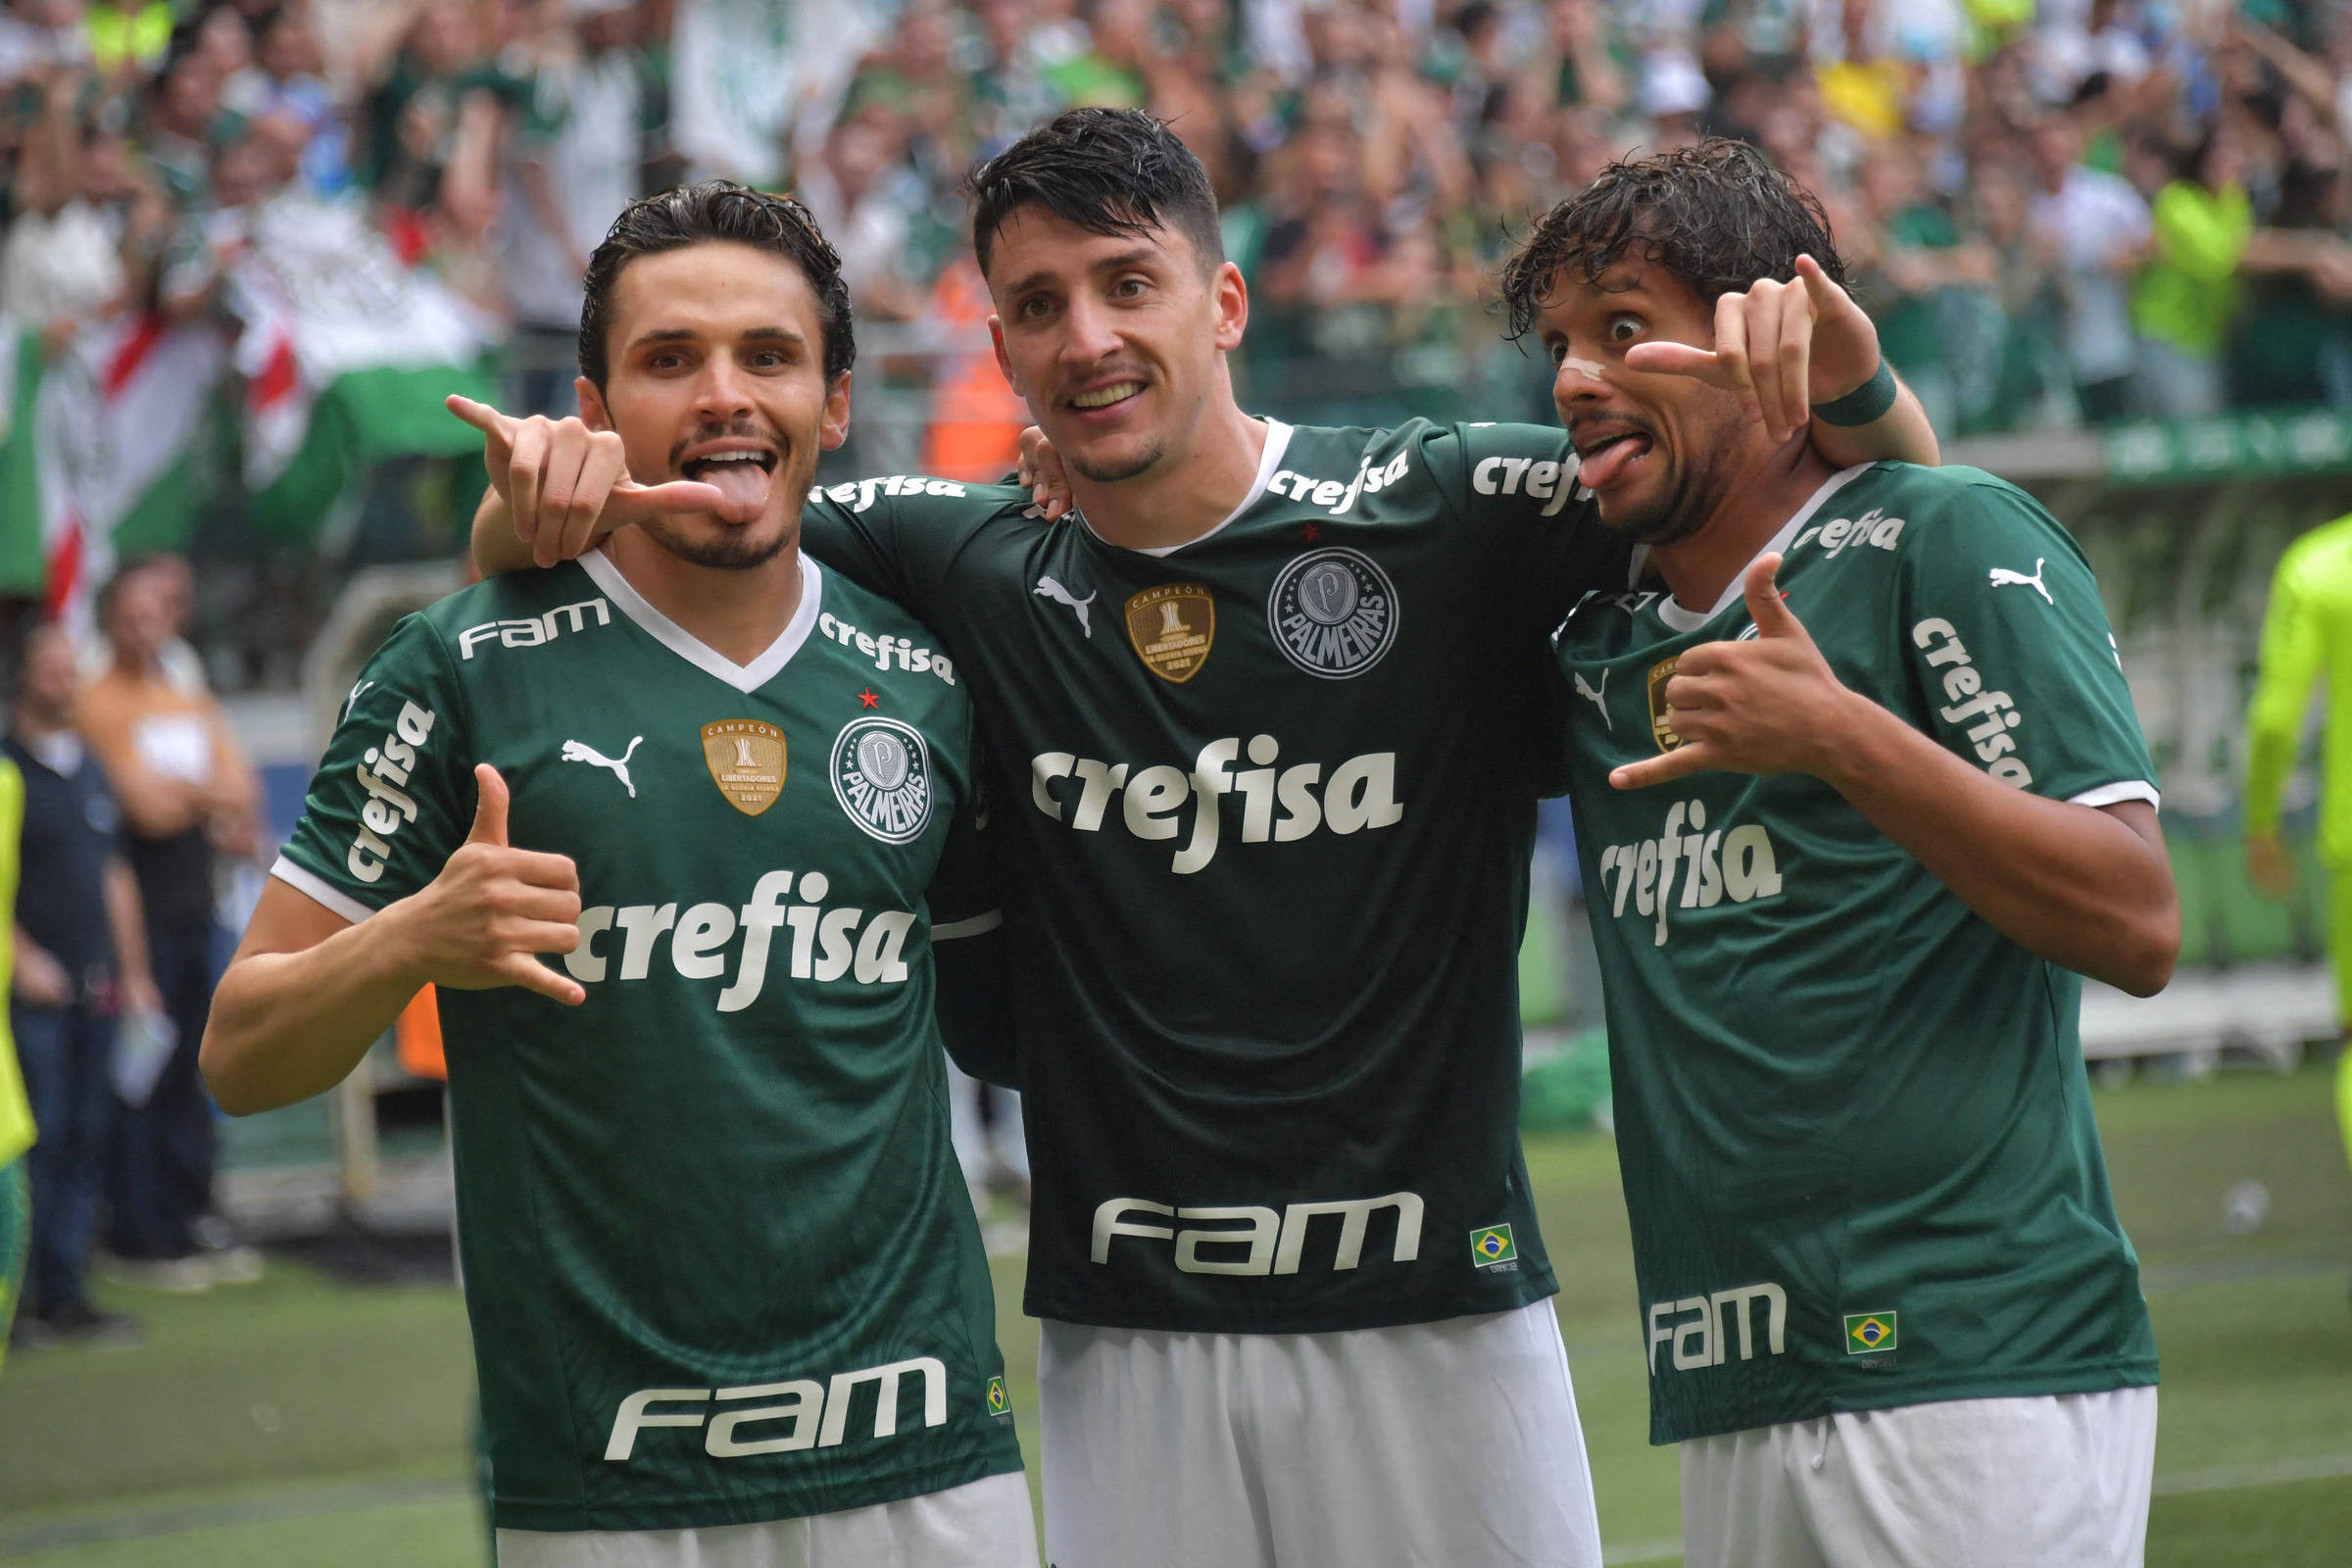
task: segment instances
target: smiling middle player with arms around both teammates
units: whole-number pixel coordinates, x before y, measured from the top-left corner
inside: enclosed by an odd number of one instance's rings
[[[861,480],[811,496],[807,538],[938,630],[988,736],[1047,1556],[1597,1563],[1517,950],[1548,635],[1625,545],[1559,430],[1242,411],[1247,287],[1150,115],[1065,113],[971,195],[1000,364],[1077,508]],[[1780,430],[1877,364],[1851,301],[1797,280],[1726,299],[1717,343],[1677,367]],[[1931,456],[1910,421],[1823,440]],[[564,505],[513,508],[546,559],[614,517],[572,482],[588,435],[517,435],[562,475]],[[487,569],[527,557],[508,510],[477,515]]]

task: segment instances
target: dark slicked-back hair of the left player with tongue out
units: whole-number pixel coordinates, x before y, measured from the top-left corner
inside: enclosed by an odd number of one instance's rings
[[[840,381],[858,357],[849,320],[849,284],[842,282],[842,256],[816,230],[809,209],[788,195],[769,195],[727,179],[677,186],[647,195],[621,209],[604,230],[604,244],[588,259],[588,292],[581,301],[581,376],[600,393],[612,371],[604,336],[612,331],[612,289],[637,256],[682,252],[694,244],[748,244],[788,259],[816,294],[816,324],[823,339],[826,386]]]

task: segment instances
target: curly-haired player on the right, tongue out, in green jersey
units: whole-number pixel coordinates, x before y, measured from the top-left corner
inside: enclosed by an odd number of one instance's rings
[[[1693,1568],[2136,1566],[2157,1349],[2077,1013],[2178,952],[2154,766],[2030,496],[1635,364],[1802,256],[1818,202],[1708,141],[1505,273],[1637,545],[1557,651],[1651,1441]]]

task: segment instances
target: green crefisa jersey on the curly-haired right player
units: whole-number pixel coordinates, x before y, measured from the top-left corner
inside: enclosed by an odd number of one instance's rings
[[[1837,677],[1994,778],[2154,802],[2098,583],[1973,468],[1849,468],[1769,545]],[[1632,1215],[1651,1441],[2157,1380],[2091,1119],[2082,980],[1830,785],[1693,773],[1661,686],[1752,637],[1644,585],[1559,632]]]

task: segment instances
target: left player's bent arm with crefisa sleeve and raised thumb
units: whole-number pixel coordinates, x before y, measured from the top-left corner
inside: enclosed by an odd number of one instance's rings
[[[200,1065],[226,1112],[332,1088],[426,983],[583,999],[534,957],[579,945],[579,875],[508,844],[506,783],[461,755],[459,708],[412,616],[355,686],[214,992]]]

